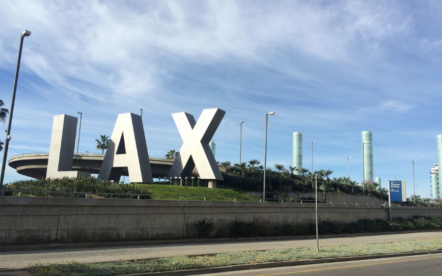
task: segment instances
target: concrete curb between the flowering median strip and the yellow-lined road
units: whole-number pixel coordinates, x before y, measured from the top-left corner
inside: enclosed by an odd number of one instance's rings
[[[442,250],[381,254],[381,255],[367,255],[367,256],[353,256],[353,257],[342,257],[342,258],[322,258],[322,259],[310,259],[310,260],[268,262],[268,263],[257,263],[257,264],[239,264],[239,265],[230,265],[230,266],[196,268],[196,269],[188,269],[188,270],[146,272],[146,273],[137,273],[137,274],[121,274],[121,275],[116,275],[116,276],[184,276],[184,275],[231,272],[231,271],[238,271],[238,270],[260,269],[260,268],[309,265],[309,264],[321,264],[321,263],[338,263],[338,262],[347,262],[347,261],[384,259],[384,258],[405,257],[405,256],[418,256],[418,255],[428,255],[428,254],[438,254],[438,253],[442,253]]]

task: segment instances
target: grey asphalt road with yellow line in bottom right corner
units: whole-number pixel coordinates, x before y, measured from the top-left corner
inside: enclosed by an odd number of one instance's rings
[[[205,276],[355,276],[355,275],[440,275],[442,254],[395,257],[331,264],[263,268],[247,271],[210,273]]]

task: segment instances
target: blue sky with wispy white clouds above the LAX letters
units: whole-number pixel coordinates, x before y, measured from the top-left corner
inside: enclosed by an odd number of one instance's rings
[[[181,147],[171,114],[226,111],[216,160],[292,162],[362,180],[361,131],[373,132],[375,176],[430,196],[442,133],[439,1],[2,1],[0,99],[10,105],[25,38],[8,158],[48,152],[53,116],[83,113],[80,152],[143,108],[149,154]],[[5,128],[7,126],[5,125]],[[4,137],[0,137],[4,141]],[[3,153],[3,152],[2,152]],[[3,154],[2,154],[3,156]],[[23,179],[8,167],[5,180]]]

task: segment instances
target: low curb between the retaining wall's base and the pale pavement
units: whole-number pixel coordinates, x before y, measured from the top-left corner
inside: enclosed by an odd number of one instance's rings
[[[345,237],[365,237],[377,235],[411,234],[422,232],[440,232],[442,230],[414,230],[414,231],[391,231],[374,233],[354,233],[354,234],[330,234],[319,235],[319,239],[345,238]],[[279,236],[279,237],[240,237],[240,238],[202,238],[202,239],[174,239],[174,240],[135,240],[135,241],[105,241],[105,242],[79,242],[79,243],[51,243],[51,244],[30,244],[30,245],[0,245],[0,252],[9,251],[29,251],[29,250],[54,250],[54,249],[80,249],[96,247],[114,246],[144,246],[163,244],[188,244],[188,243],[216,243],[232,241],[278,241],[278,240],[305,240],[316,239],[315,235],[308,236]],[[1,271],[0,271],[1,272]]]

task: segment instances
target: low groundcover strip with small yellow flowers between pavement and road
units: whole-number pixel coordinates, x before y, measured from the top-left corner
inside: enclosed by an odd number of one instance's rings
[[[380,255],[406,252],[422,252],[442,249],[442,238],[430,238],[392,243],[358,244],[302,249],[267,251],[246,251],[219,253],[205,256],[176,256],[145,260],[131,260],[105,263],[42,264],[28,268],[38,276],[65,275],[118,275],[156,271],[173,271],[203,267],[216,267],[250,263],[308,260],[333,257]]]

